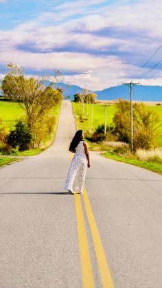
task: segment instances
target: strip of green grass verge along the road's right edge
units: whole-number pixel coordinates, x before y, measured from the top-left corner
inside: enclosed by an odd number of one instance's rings
[[[113,154],[111,152],[105,152],[105,153],[102,153],[102,155],[104,155],[104,157],[107,157],[107,158],[110,158],[113,160],[117,160],[119,162],[132,164],[132,165],[146,168],[146,169],[151,170],[153,172],[157,172],[157,173],[162,174],[162,165],[159,163],[156,163],[156,162],[140,161],[137,159],[132,159],[132,158],[127,158],[124,156],[116,155],[116,154]]]

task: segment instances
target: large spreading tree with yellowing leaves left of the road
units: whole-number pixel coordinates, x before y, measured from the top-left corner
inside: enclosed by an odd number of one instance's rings
[[[23,71],[17,66],[8,65],[9,71],[2,82],[3,96],[10,100],[16,100],[25,110],[27,126],[32,133],[32,139],[35,144],[38,122],[43,123],[52,107],[62,100],[62,90],[53,88],[54,82],[44,85],[45,79],[36,80],[26,78]],[[37,132],[37,133],[36,133]],[[38,140],[40,142],[40,139]]]

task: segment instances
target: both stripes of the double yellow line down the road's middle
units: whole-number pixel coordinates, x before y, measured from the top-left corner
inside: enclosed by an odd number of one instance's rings
[[[66,146],[68,148],[67,104],[66,104]],[[70,154],[69,154],[69,157],[71,158]],[[81,267],[82,267],[82,285],[83,285],[83,288],[94,288],[95,284],[93,280],[93,271],[91,267],[91,258],[89,255],[89,245],[88,245],[88,241],[86,238],[86,229],[84,225],[84,217],[82,214],[80,195],[76,194],[74,197],[75,197],[76,216],[77,216],[77,223],[78,223],[78,239],[79,239],[79,246],[80,246],[80,261],[81,261]],[[89,221],[89,227],[91,230],[91,236],[93,239],[95,255],[96,255],[98,267],[100,270],[102,286],[104,288],[113,288],[114,287],[113,280],[111,278],[111,273],[108,268],[106,256],[104,254],[102,241],[100,239],[100,235],[97,230],[95,218],[93,216],[93,211],[91,209],[91,204],[89,202],[89,198],[88,198],[85,188],[83,191],[83,199],[84,199],[84,206],[86,210],[86,216]]]

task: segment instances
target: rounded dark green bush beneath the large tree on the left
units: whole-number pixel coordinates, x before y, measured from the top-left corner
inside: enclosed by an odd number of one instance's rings
[[[15,129],[11,130],[7,136],[7,143],[10,144],[13,148],[19,146],[19,151],[25,151],[29,148],[29,145],[32,141],[32,135],[29,128],[22,120],[19,120]]]

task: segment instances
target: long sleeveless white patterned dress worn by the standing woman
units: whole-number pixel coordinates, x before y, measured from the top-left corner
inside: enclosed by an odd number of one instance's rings
[[[73,155],[64,190],[78,191],[82,193],[86,177],[88,160],[84,151],[83,141],[80,141],[76,147],[76,153]]]

